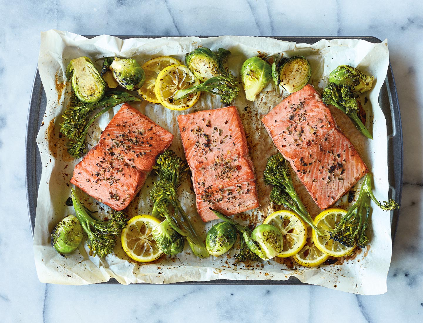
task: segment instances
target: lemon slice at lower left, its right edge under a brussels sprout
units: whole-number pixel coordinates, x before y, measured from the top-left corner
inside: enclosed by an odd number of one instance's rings
[[[163,252],[151,232],[160,221],[151,215],[137,215],[129,219],[121,234],[122,247],[133,260],[141,263],[156,260]]]

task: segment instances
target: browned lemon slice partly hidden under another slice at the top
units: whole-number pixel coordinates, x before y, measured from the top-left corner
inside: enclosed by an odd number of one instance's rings
[[[160,72],[170,65],[181,64],[179,60],[170,56],[160,56],[146,61],[142,66],[146,73],[146,81],[143,86],[138,89],[140,96],[151,103],[160,103],[154,93],[154,85],[156,83],[157,76]]]

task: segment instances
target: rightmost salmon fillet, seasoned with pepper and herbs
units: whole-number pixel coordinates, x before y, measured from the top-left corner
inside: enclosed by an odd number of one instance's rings
[[[261,120],[321,209],[335,203],[368,172],[311,85],[292,93]]]

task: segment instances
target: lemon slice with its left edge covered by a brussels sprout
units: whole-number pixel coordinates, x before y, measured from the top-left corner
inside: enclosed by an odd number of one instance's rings
[[[297,214],[287,210],[270,214],[263,223],[277,227],[283,236],[283,249],[277,257],[291,257],[299,252],[307,241],[305,223]]]

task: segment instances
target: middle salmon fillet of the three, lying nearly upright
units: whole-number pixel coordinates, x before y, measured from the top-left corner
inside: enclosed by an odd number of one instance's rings
[[[254,167],[236,107],[179,115],[178,123],[201,219],[217,219],[209,207],[226,215],[257,208]]]

